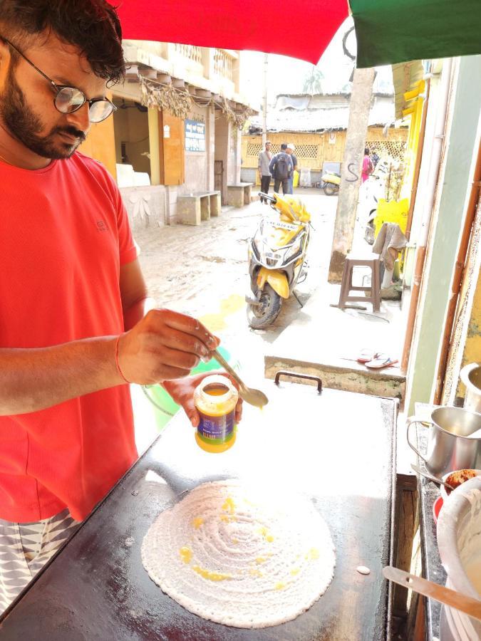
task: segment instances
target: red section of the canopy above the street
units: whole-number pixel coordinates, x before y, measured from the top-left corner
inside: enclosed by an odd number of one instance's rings
[[[120,5],[124,38],[282,53],[314,64],[348,16],[347,0],[109,1]]]

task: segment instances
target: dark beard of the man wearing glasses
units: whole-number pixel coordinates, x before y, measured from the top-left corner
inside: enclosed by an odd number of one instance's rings
[[[43,158],[63,160],[70,158],[78,145],[86,139],[86,134],[72,125],[53,127],[47,134],[41,119],[33,113],[25,95],[14,77],[14,65],[9,68],[4,93],[0,95],[0,117],[9,133],[27,149]],[[78,138],[76,142],[58,141],[58,134],[66,133]]]

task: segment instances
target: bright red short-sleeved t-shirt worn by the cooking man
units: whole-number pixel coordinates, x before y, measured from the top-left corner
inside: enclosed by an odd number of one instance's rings
[[[136,258],[118,188],[81,153],[0,162],[0,348],[123,331],[120,265]],[[0,372],[1,384],[1,372]],[[137,457],[128,385],[0,416],[0,518],[85,518]]]

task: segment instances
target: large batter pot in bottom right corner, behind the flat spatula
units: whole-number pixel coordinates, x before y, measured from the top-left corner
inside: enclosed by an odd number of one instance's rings
[[[470,580],[481,556],[481,477],[470,479],[453,491],[438,518],[438,548],[452,590],[481,600]],[[474,564],[474,565],[473,565]],[[452,638],[481,639],[481,621],[445,606]]]

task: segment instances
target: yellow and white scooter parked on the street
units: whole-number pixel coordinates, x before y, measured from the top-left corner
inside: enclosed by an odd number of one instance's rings
[[[246,296],[247,320],[254,329],[273,323],[282,299],[296,296],[294,287],[307,276],[304,261],[311,231],[311,215],[299,198],[259,196],[274,212],[262,218],[249,244],[252,292]]]

